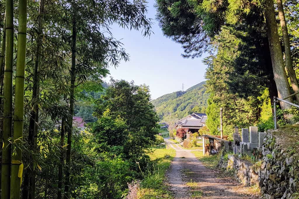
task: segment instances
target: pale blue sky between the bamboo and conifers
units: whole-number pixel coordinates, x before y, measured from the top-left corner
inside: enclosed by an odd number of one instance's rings
[[[123,47],[130,55],[129,62],[121,62],[118,68],[110,68],[110,76],[114,79],[134,80],[135,84],[149,86],[152,99],[161,95],[184,90],[205,80],[203,55],[197,59],[185,59],[181,56],[180,44],[163,36],[155,20],[155,0],[148,1],[148,18],[152,18],[154,34],[144,38],[141,32],[124,30],[114,26],[111,30],[116,39],[121,39]]]

